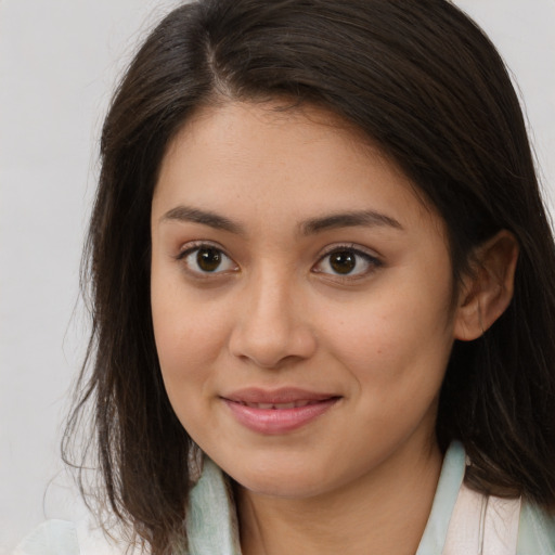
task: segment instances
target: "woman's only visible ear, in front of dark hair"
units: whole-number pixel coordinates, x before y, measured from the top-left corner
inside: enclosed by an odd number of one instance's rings
[[[459,294],[455,339],[480,337],[505,311],[513,298],[517,259],[518,243],[507,230],[476,248]]]

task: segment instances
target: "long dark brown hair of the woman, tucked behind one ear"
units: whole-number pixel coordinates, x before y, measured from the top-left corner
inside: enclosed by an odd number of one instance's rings
[[[518,240],[515,296],[457,343],[442,449],[468,482],[555,504],[555,250],[518,99],[483,33],[446,0],[202,0],[171,12],[106,117],[87,244],[93,327],[66,441],[88,405],[104,490],[154,554],[183,539],[189,437],[166,396],[150,308],[150,211],[168,143],[201,105],[285,98],[362,130],[447,222],[455,280],[501,229]],[[68,444],[65,444],[68,449]]]

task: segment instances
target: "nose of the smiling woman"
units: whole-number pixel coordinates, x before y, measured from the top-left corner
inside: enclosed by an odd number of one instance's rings
[[[245,287],[240,304],[229,344],[233,356],[279,369],[314,353],[317,337],[292,280],[260,276]]]

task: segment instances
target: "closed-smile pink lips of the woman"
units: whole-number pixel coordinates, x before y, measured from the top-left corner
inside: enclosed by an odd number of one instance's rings
[[[260,434],[279,435],[312,422],[340,398],[296,388],[275,391],[249,388],[221,399],[240,424]]]

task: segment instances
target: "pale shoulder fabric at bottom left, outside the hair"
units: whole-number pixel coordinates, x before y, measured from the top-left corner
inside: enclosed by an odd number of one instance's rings
[[[96,526],[92,517],[77,522],[47,520],[38,526],[18,545],[12,555],[124,555],[140,551],[115,541]]]

